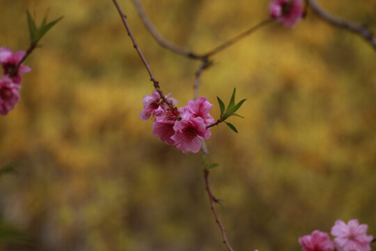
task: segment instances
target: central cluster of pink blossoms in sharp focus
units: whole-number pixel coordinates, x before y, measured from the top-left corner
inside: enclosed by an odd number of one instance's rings
[[[169,98],[170,94],[162,100],[157,91],[152,91],[152,96],[143,96],[143,110],[140,119],[154,120],[152,134],[159,137],[168,145],[173,145],[183,153],[189,151],[197,153],[201,149],[200,139],[209,139],[211,132],[207,126],[214,123],[209,114],[212,104],[205,97],[189,100],[188,105],[178,109],[178,101]]]

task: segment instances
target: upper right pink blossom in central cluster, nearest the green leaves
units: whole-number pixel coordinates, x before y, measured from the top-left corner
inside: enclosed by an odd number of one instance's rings
[[[188,116],[193,118],[200,117],[203,119],[206,126],[214,123],[214,119],[209,114],[210,109],[212,109],[212,104],[205,97],[200,97],[197,100],[189,100],[186,107],[179,109],[182,114],[182,118],[185,119]]]

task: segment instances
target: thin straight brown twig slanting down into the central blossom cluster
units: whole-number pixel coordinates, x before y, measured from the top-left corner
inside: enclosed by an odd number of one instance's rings
[[[159,93],[159,96],[161,97],[163,102],[166,103],[166,105],[168,105],[171,109],[173,109],[173,105],[171,104],[171,102],[168,102],[166,100],[166,98],[164,98],[164,94],[159,87],[159,82],[157,81],[157,79],[155,79],[154,75],[152,74],[152,70],[149,67],[148,61],[146,61],[145,56],[143,56],[139,46],[136,43],[136,40],[134,39],[134,36],[133,36],[133,34],[130,30],[130,26],[127,23],[127,16],[123,13],[123,10],[121,10],[121,8],[120,8],[120,6],[119,6],[119,4],[116,0],[112,0],[112,2],[115,5],[116,9],[118,10],[118,13],[121,17],[121,20],[123,21],[125,29],[127,30],[128,36],[130,36],[130,38],[132,40],[134,49],[136,49],[137,53],[139,54],[139,56],[141,58],[141,61],[143,62],[143,65],[146,67],[146,70],[148,70],[148,73],[149,73],[149,76],[150,76],[150,81],[153,82],[155,90]]]

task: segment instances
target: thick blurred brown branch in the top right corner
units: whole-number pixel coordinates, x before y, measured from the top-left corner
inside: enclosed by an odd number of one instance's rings
[[[348,31],[352,31],[357,35],[362,36],[376,50],[376,38],[373,33],[366,28],[366,26],[361,26],[354,22],[345,21],[338,17],[334,17],[334,15],[331,15],[329,12],[327,12],[327,10],[324,10],[315,0],[307,1],[309,3],[309,6],[311,6],[315,13],[319,15],[323,20],[325,20],[329,24],[347,29]]]

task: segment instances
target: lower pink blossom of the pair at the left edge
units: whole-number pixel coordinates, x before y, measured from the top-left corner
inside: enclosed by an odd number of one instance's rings
[[[8,77],[0,80],[0,114],[6,116],[19,100],[19,85],[13,84]]]

